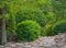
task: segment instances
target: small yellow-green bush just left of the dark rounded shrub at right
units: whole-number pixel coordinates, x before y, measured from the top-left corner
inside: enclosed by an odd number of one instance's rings
[[[44,32],[42,33],[42,36],[52,36],[52,27],[53,27],[53,24],[50,24],[47,23],[45,26],[44,26]]]

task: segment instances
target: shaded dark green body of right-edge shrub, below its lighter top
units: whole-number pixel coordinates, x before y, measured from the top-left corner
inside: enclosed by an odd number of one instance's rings
[[[56,25],[56,26],[53,28],[53,33],[54,33],[54,34],[65,33],[65,32],[66,32],[66,22],[65,22],[65,23],[61,23],[61,24]]]

